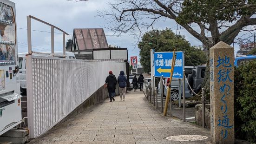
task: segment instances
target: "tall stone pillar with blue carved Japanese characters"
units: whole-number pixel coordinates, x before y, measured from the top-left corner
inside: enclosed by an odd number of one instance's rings
[[[210,48],[210,134],[213,144],[234,144],[234,48]]]

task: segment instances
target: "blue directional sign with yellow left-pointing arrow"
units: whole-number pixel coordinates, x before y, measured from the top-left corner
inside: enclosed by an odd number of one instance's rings
[[[184,53],[176,52],[172,78],[183,79]],[[170,78],[173,52],[154,52],[155,77]]]

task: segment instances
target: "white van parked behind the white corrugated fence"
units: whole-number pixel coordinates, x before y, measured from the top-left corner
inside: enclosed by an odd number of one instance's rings
[[[26,52],[19,53],[19,68],[20,68],[20,92],[26,92]],[[33,53],[36,56],[52,56],[51,52]],[[54,57],[63,58],[63,52],[54,52]],[[76,59],[73,52],[66,52],[66,59]]]

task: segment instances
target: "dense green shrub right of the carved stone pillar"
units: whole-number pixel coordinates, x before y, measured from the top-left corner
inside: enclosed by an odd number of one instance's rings
[[[235,69],[236,138],[256,142],[256,60]]]

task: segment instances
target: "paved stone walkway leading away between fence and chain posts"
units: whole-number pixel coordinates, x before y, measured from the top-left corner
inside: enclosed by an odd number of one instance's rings
[[[206,144],[201,141],[170,141],[171,135],[202,135],[203,130],[181,120],[163,117],[146,101],[143,92],[129,92],[125,101],[105,100],[57,125],[30,144]]]

